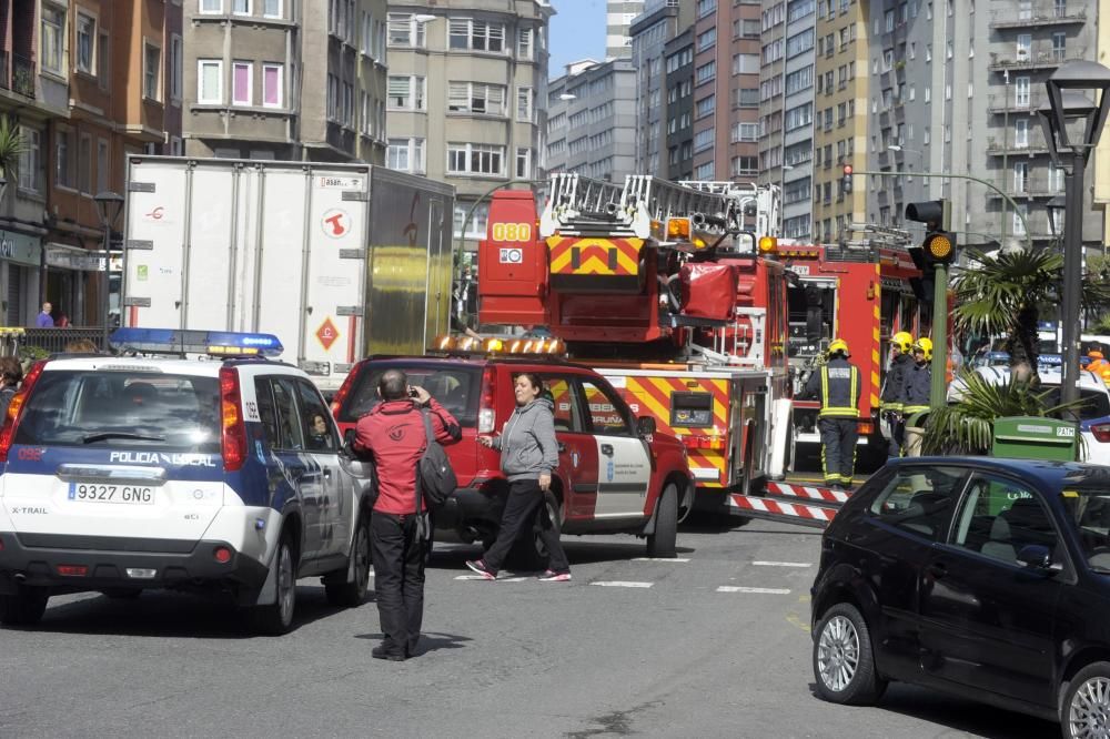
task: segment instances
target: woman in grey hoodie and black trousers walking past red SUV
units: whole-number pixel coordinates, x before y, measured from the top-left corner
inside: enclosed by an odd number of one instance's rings
[[[501,451],[501,469],[508,478],[508,499],[501,515],[497,540],[482,559],[466,566],[487,580],[497,579],[497,570],[518,536],[532,528],[539,515],[539,536],[551,555],[548,569],[539,576],[547,583],[571,579],[571,564],[558,540],[558,530],[544,504],[552,485],[552,473],[558,466],[558,442],[555,441],[553,404],[542,397],[544,382],[534,372],[522,372],[513,382],[516,409],[505,423],[500,436],[478,436],[478,443]]]

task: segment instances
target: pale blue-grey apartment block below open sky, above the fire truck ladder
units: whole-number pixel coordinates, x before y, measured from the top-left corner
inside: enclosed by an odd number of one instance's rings
[[[637,125],[632,62],[569,64],[547,87],[547,168],[624,182],[636,173]]]

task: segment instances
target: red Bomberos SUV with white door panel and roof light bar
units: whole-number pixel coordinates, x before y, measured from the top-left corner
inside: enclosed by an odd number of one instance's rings
[[[593,370],[494,356],[371,357],[354,366],[332,401],[342,433],[379,402],[377,381],[393,368],[431,393],[463,427],[462,442],[446,447],[460,488],[436,512],[436,528],[454,529],[467,543],[488,545],[496,537],[508,484],[500,453],[476,437],[501,432],[516,407],[514,376],[536,372],[555,405],[559,443],[547,497],[552,520],[564,534],[635,534],[647,538],[648,556],[675,556],[678,522],[694,490],[685,446],[657,432],[654,418],[636,418]],[[518,551],[536,561],[531,548]]]

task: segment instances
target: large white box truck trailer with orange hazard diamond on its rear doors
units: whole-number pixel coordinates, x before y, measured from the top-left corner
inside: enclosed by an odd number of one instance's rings
[[[122,325],[265,332],[335,391],[450,330],[454,188],[369,164],[128,159]]]

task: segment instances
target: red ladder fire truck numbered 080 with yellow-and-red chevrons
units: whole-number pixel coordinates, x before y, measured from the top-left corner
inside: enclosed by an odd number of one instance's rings
[[[544,326],[687,447],[694,505],[731,508],[789,463],[788,274],[760,256],[775,186],[552,176],[494,194],[483,324]]]

